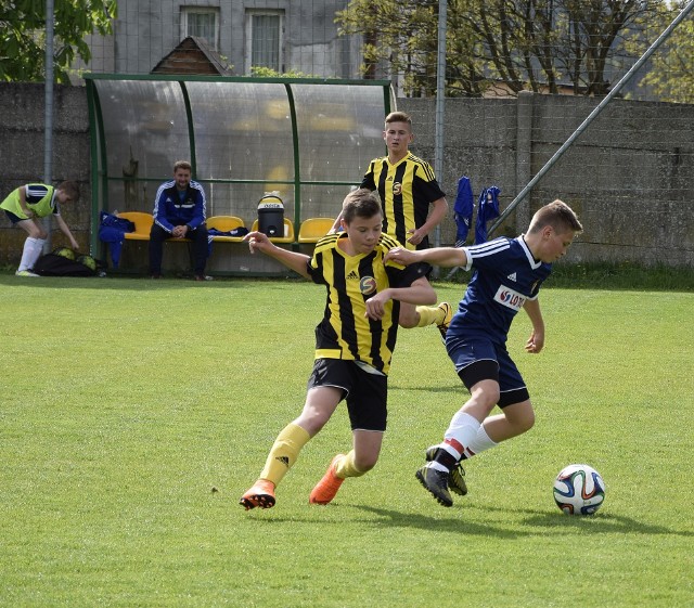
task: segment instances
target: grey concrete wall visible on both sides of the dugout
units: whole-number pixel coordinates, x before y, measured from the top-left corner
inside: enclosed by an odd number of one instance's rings
[[[518,100],[448,100],[439,181],[448,193],[451,214],[442,224],[441,243],[454,241],[452,207],[462,174],[472,179],[475,195],[483,187],[498,185],[505,208],[596,103],[532,94]],[[0,83],[0,196],[4,197],[18,185],[42,181],[43,87]],[[399,100],[399,108],[413,117],[413,152],[433,164],[435,103]],[[80,184],[81,199],[66,206],[64,217],[87,250],[91,191],[83,88],[55,89],[53,178],[54,182],[74,179]],[[499,234],[522,232],[531,214],[554,198],[571,205],[586,228],[569,251],[569,261],[693,264],[694,106],[616,100],[539,182]],[[53,240],[55,245],[65,244],[60,232]],[[24,233],[0,217],[0,266],[16,266],[23,242]]]

